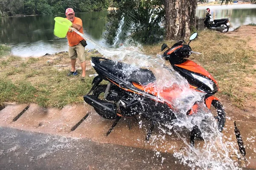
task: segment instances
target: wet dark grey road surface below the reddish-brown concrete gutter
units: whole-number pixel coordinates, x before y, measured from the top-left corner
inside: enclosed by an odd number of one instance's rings
[[[175,161],[168,153],[0,127],[1,170],[189,169]]]

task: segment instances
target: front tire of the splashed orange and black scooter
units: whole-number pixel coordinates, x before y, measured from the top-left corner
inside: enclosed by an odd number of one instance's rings
[[[222,132],[226,123],[226,112],[224,111],[221,102],[219,102],[218,100],[212,100],[210,111],[218,122],[218,130]]]

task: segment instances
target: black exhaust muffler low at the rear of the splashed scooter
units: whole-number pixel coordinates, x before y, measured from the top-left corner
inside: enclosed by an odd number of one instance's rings
[[[84,101],[87,102],[89,105],[93,106],[93,108],[97,108],[106,114],[116,115],[116,109],[111,102],[106,102],[101,99],[95,99],[95,97],[93,97],[92,95],[85,95]]]

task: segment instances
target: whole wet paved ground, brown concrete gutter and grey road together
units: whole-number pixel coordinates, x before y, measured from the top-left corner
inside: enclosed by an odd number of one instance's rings
[[[227,119],[223,139],[233,141],[230,146],[238,149],[233,119],[241,130],[250,162],[242,166],[256,168],[255,117]],[[149,125],[145,121],[140,126],[139,121],[131,119],[129,130],[128,120],[122,118],[106,136],[113,120],[103,119],[88,105],[67,105],[58,110],[9,104],[0,111],[0,170],[188,169],[173,157],[175,149],[184,147],[181,139],[155,129],[146,142]],[[187,139],[189,142],[189,135]]]

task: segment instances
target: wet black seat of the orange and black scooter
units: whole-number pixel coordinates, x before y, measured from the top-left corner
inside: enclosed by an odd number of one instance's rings
[[[111,74],[137,84],[147,85],[156,80],[152,71],[145,68],[134,69],[131,65],[122,62],[114,62],[113,60],[103,60],[100,61],[99,64]]]

